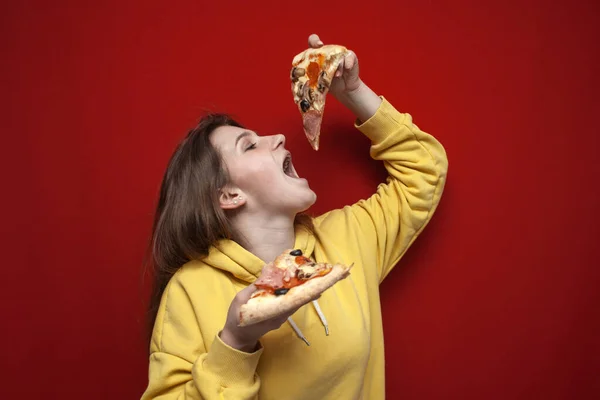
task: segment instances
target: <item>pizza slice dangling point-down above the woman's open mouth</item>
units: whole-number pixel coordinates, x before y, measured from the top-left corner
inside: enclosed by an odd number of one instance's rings
[[[340,62],[348,49],[339,45],[310,48],[292,60],[290,79],[294,102],[302,115],[304,133],[314,150],[319,150],[325,98]]]

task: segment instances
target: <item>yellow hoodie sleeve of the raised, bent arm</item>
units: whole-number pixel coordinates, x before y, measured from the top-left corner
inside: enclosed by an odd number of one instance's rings
[[[320,235],[387,276],[431,219],[442,196],[448,169],[446,152],[421,131],[410,114],[384,97],[377,112],[355,127],[371,139],[371,157],[388,172],[375,194],[317,220]]]

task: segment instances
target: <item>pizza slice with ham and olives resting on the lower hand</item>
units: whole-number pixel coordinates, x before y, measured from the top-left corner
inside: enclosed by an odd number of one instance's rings
[[[342,264],[316,263],[300,250],[286,250],[266,264],[254,282],[257,290],[240,308],[240,326],[290,312],[350,274]]]

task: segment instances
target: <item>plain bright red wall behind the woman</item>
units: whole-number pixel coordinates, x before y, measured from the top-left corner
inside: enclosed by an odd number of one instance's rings
[[[450,160],[381,288],[388,398],[598,398],[600,3],[552,4],[4,4],[0,397],[139,398],[143,251],[203,111],[286,133],[314,212],[375,190],[337,102],[318,153],[302,136],[287,74],[318,32]]]

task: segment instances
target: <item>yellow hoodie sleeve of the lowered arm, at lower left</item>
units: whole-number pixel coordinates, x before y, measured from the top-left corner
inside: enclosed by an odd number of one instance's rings
[[[254,353],[241,352],[218,335],[207,346],[189,294],[175,277],[171,281],[157,314],[142,400],[257,399],[256,367],[262,347]]]

